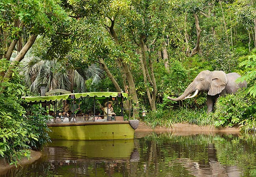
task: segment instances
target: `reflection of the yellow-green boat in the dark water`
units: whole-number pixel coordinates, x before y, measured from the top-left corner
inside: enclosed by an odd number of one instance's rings
[[[65,171],[70,176],[111,175],[116,170],[123,173],[124,166],[139,161],[134,141],[138,140],[54,140],[45,149],[45,161],[50,162],[54,174]]]

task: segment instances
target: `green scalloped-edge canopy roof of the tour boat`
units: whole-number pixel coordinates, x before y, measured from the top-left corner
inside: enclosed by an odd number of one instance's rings
[[[72,93],[55,96],[22,96],[26,102],[43,102],[43,101],[60,101],[60,100],[71,100],[83,97],[92,97],[98,100],[104,100],[109,97],[115,98],[128,98],[127,93],[121,92],[85,92],[85,93]]]

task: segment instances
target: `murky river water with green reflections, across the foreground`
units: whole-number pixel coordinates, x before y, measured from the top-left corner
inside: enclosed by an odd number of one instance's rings
[[[134,140],[53,141],[32,165],[4,177],[256,176],[256,137],[151,133]]]

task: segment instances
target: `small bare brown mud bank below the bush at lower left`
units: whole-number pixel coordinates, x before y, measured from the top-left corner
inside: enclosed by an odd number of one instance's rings
[[[17,166],[32,164],[33,162],[40,159],[41,157],[42,157],[41,151],[30,150],[30,159],[28,159],[27,157],[24,157],[18,162]],[[9,165],[9,163],[6,162],[5,160],[0,160],[0,175],[4,174],[4,171],[9,170],[11,168],[15,168],[15,165]]]

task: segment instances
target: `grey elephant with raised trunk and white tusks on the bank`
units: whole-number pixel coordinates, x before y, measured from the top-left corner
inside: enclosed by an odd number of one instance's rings
[[[192,83],[186,88],[178,98],[167,98],[172,101],[185,100],[195,97],[199,91],[207,93],[207,112],[213,111],[214,104],[220,95],[235,93],[239,88],[247,87],[247,82],[236,83],[236,79],[241,77],[236,72],[226,74],[223,71],[204,70],[200,72]],[[195,92],[193,95],[192,93]]]

